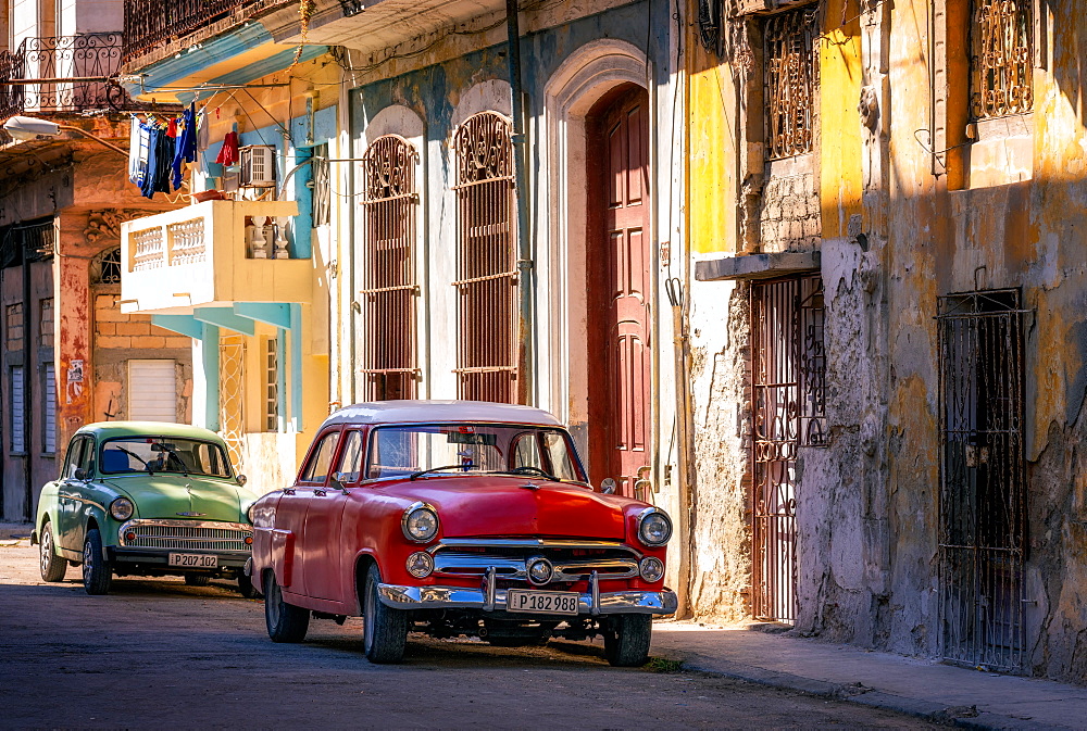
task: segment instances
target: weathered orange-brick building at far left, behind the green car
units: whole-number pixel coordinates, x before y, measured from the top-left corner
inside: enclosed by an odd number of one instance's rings
[[[190,349],[117,302],[121,222],[170,206],[128,185],[118,147],[140,106],[110,81],[122,3],[26,0],[2,18],[0,119],[59,125],[0,144],[0,518],[24,520],[83,424],[188,418]]]

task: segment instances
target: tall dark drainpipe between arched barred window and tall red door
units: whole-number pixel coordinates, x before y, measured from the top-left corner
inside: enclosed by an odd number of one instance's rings
[[[513,171],[517,191],[517,293],[521,295],[521,357],[518,396],[523,404],[536,403],[535,349],[533,332],[533,251],[528,238],[528,141],[525,138],[524,90],[521,83],[521,29],[517,0],[505,0],[505,29],[509,35],[510,93],[513,97]]]

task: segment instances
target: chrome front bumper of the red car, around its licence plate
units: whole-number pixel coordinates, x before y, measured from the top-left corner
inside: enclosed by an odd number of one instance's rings
[[[596,575],[589,580],[589,591],[578,595],[578,615],[609,614],[674,614],[679,603],[675,592],[664,591],[616,591],[601,592]],[[479,589],[468,587],[401,587],[391,583],[377,584],[377,596],[382,604],[393,609],[478,609],[480,612],[505,610],[505,589],[496,587],[495,575],[488,572]],[[541,591],[557,591],[551,587]],[[520,613],[518,613],[520,614]],[[559,616],[559,615],[555,615]]]

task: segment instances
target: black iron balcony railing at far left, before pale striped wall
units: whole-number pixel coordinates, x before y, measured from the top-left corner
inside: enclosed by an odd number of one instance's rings
[[[111,80],[121,68],[120,33],[24,38],[0,51],[0,117],[24,112],[140,109]]]

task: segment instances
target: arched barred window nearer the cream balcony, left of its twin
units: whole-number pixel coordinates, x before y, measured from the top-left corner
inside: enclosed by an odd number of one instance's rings
[[[371,400],[413,399],[415,346],[415,165],[404,138],[385,135],[363,155],[363,367]]]

